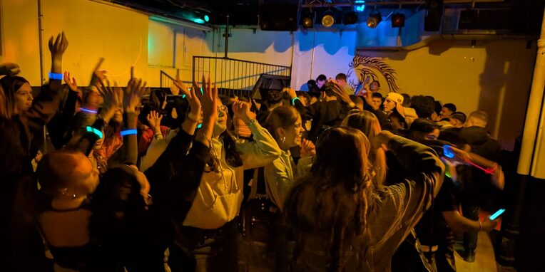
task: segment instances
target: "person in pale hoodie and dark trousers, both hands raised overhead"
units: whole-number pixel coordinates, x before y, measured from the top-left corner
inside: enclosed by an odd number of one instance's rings
[[[227,108],[220,104],[208,139],[211,159],[187,216],[175,222],[179,235],[177,246],[170,247],[172,271],[238,271],[236,219],[243,202],[243,171],[269,164],[280,156],[280,147],[255,120],[250,103],[233,103],[233,113],[248,125],[253,141],[235,142],[226,130]]]

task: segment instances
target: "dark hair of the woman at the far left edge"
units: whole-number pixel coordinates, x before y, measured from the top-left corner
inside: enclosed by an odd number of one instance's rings
[[[15,111],[15,93],[29,80],[17,75],[7,75],[0,79],[0,117],[10,120]]]

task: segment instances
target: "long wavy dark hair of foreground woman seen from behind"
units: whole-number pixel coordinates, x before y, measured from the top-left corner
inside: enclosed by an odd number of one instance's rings
[[[296,251],[304,247],[307,234],[327,236],[327,271],[342,271],[346,245],[367,231],[373,187],[369,148],[369,140],[360,130],[326,130],[317,141],[310,174],[300,179],[285,203]]]

